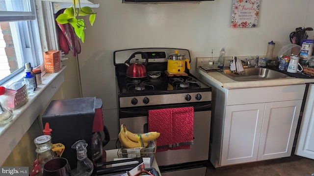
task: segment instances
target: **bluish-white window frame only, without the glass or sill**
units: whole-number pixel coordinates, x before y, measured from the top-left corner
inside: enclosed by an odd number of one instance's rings
[[[6,4],[10,0],[5,0]],[[25,1],[23,1],[25,2]],[[39,25],[37,21],[37,14],[35,10],[35,0],[28,0],[28,9],[30,12],[23,11],[0,11],[0,22],[9,22],[12,32],[12,38],[15,47],[18,70],[12,72],[0,80],[0,85],[9,81],[16,75],[24,71],[24,64],[31,63],[31,66],[36,67],[43,64],[43,52],[41,47],[41,37]],[[11,3],[11,6],[14,4]],[[10,6],[8,6],[8,10]],[[21,56],[20,56],[21,55]]]

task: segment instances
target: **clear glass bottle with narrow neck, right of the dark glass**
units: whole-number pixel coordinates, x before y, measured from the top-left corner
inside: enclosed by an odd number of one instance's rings
[[[84,140],[73,144],[72,148],[77,150],[78,167],[71,172],[73,176],[90,176],[93,173],[94,164],[87,157],[87,144]]]

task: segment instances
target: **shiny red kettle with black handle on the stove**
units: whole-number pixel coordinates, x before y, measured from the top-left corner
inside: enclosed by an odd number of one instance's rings
[[[139,62],[138,59],[135,59],[135,63],[130,64],[131,59],[134,58],[136,54],[141,54],[142,58],[144,56],[145,64]],[[127,76],[128,77],[130,77],[130,78],[144,78],[147,76],[146,66],[148,64],[148,56],[146,53],[134,52],[124,64],[126,66],[128,66],[128,69],[127,69]]]

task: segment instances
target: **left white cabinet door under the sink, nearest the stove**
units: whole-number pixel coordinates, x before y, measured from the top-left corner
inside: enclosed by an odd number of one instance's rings
[[[221,166],[257,160],[265,104],[226,107]]]

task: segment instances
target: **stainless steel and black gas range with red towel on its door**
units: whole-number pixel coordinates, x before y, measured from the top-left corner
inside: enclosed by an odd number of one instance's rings
[[[209,131],[211,115],[211,88],[186,69],[185,76],[169,76],[168,55],[178,48],[136,48],[114,52],[114,65],[119,98],[119,121],[135,133],[148,131],[148,111],[166,108],[194,107],[193,144],[190,149],[168,150],[156,153],[162,176],[205,176],[209,164]],[[135,52],[147,55],[147,73],[160,74],[157,78],[130,78],[125,62]],[[132,60],[145,63],[145,54],[134,55]],[[162,120],[160,120],[162,123]]]

